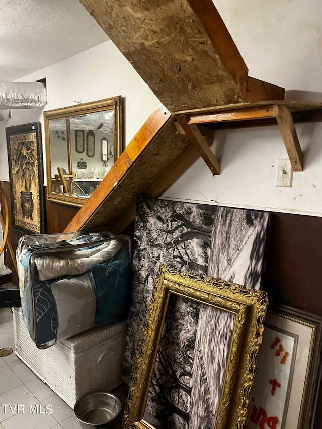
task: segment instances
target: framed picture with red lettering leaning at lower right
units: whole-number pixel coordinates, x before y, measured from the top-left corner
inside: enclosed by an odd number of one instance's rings
[[[320,382],[322,319],[279,306],[267,313],[245,429],[310,429]]]

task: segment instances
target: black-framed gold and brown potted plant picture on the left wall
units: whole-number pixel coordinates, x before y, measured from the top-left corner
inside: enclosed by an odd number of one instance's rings
[[[6,128],[12,229],[44,233],[43,161],[40,122]]]

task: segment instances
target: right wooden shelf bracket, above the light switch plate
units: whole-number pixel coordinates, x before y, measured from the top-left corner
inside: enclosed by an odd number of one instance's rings
[[[293,171],[303,171],[303,153],[289,108],[284,105],[274,105],[273,115],[276,117]]]

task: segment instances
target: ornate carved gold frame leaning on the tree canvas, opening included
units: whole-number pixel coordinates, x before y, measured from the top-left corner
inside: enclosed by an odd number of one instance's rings
[[[198,311],[185,310],[191,303],[198,306]],[[123,427],[243,427],[267,304],[266,292],[247,290],[204,275],[179,273],[161,265],[146,314]],[[182,311],[181,320],[187,313],[186,321],[180,326],[174,321],[176,311]],[[184,353],[187,350],[185,331],[189,331],[189,317],[196,314],[198,328],[194,350],[187,354]],[[227,332],[228,325],[228,336],[225,334],[222,338],[224,344],[214,344],[213,329],[222,328]],[[166,346],[165,341],[168,341]],[[169,367],[162,357],[165,350],[171,350],[166,354],[173,359],[170,365],[173,382],[168,384],[162,374]],[[199,374],[201,370],[202,375]],[[200,386],[193,381],[194,372],[198,373],[195,380],[202,380]],[[175,390],[172,385],[176,386]],[[157,389],[165,388],[169,399],[158,403],[162,396]],[[193,391],[196,389],[197,392]],[[205,395],[209,403],[216,404],[214,409],[206,408]],[[160,419],[168,415],[167,407],[174,412],[171,425]],[[203,418],[207,422],[202,421]]]

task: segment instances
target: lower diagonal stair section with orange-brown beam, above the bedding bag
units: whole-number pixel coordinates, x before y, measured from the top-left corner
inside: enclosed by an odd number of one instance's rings
[[[137,196],[158,197],[199,158],[174,121],[163,105],[155,109],[64,232],[101,225],[121,232],[133,220]]]

